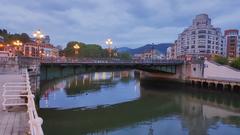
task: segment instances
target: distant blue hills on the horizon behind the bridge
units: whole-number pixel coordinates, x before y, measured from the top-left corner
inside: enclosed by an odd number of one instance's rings
[[[159,52],[165,54],[166,51],[167,51],[167,48],[172,46],[172,45],[173,45],[172,43],[147,44],[147,45],[144,45],[142,47],[135,48],[135,49],[131,49],[131,48],[128,48],[128,47],[121,47],[121,48],[117,48],[117,51],[118,52],[128,52],[131,55],[134,55],[134,54],[137,54],[137,53],[144,53],[148,50],[156,49]]]

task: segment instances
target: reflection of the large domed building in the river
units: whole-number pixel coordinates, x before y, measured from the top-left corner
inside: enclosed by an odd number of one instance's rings
[[[206,94],[206,93],[205,93]],[[240,116],[239,109],[234,110],[230,105],[217,103],[216,96],[210,101],[206,95],[204,97],[181,96],[180,102],[183,115],[183,126],[189,129],[189,135],[207,135],[208,129],[215,125],[220,118],[228,118],[231,116]],[[209,97],[210,98],[210,97]],[[179,102],[179,100],[177,100]]]

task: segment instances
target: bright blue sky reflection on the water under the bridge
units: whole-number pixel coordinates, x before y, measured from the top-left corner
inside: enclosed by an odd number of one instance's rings
[[[129,71],[83,74],[46,85],[40,108],[95,108],[140,97],[139,81]]]

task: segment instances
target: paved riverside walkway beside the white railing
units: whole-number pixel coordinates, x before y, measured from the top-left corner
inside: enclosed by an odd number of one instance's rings
[[[26,135],[28,117],[26,109],[14,108],[3,111],[3,84],[6,82],[23,82],[21,75],[0,74],[0,135]]]

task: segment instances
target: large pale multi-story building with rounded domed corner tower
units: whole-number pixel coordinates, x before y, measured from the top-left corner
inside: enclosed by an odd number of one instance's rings
[[[224,38],[220,28],[211,24],[207,14],[197,15],[190,27],[179,34],[176,42],[178,58],[224,56]]]

